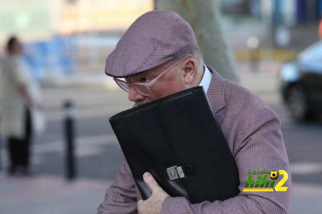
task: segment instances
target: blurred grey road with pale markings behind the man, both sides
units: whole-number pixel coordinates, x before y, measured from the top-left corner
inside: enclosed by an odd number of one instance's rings
[[[273,68],[273,72],[270,72]],[[278,93],[276,64],[266,63],[261,72],[248,72],[248,64],[240,64],[241,84],[258,94],[279,115],[282,133],[291,163],[292,181],[322,184],[322,122],[294,123],[281,103]],[[118,88],[68,85],[44,88],[47,129],[35,139],[33,165],[37,174],[65,173],[65,143],[63,135],[63,102],[75,106],[77,176],[113,180],[121,151],[108,119],[132,103]],[[6,165],[5,151],[2,163]]]

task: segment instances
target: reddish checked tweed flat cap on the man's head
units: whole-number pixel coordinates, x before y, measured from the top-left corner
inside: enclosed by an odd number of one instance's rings
[[[150,11],[129,27],[107,57],[105,73],[128,77],[191,53],[197,46],[194,32],[173,11]]]

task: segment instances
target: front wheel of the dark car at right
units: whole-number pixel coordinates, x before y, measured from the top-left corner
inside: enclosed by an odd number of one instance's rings
[[[288,108],[296,121],[305,121],[310,118],[307,97],[301,86],[296,85],[289,88],[287,97]]]

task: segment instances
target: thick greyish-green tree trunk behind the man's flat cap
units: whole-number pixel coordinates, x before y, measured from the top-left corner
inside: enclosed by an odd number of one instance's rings
[[[206,65],[239,83],[232,51],[221,27],[215,0],[154,0],[155,10],[171,10],[190,23]]]

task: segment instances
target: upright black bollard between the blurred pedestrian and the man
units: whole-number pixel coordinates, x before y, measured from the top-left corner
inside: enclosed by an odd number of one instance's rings
[[[75,143],[75,133],[74,133],[74,106],[70,100],[65,101],[65,140],[66,140],[66,179],[73,180],[76,177],[75,170],[75,154],[74,154],[74,143]]]

